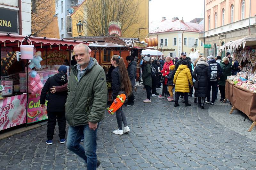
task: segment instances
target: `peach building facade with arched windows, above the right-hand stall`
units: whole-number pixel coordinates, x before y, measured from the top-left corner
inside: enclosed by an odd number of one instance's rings
[[[231,52],[219,53],[219,47],[226,42],[256,36],[255,0],[205,0],[204,12],[204,34],[200,39],[211,45],[205,48],[205,55],[224,57]]]

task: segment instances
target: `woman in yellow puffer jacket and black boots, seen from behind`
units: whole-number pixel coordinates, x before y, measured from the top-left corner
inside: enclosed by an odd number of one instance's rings
[[[187,60],[183,60],[174,75],[174,79],[173,79],[173,84],[175,84],[174,107],[180,106],[178,102],[179,102],[181,93],[184,94],[185,106],[191,106],[191,104],[188,104],[188,93],[189,93],[189,84],[192,87],[193,80],[187,65],[188,65]]]

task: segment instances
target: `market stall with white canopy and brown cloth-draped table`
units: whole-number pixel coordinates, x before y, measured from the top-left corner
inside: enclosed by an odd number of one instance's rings
[[[226,80],[225,96],[232,104],[229,114],[235,109],[242,111],[253,121],[248,130],[251,131],[256,125],[256,37],[228,42],[220,47],[220,52],[225,49],[231,49],[242,66],[240,72]]]

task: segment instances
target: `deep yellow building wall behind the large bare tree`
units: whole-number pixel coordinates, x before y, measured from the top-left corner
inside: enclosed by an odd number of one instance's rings
[[[89,0],[86,0],[89,1]],[[72,19],[72,37],[77,37],[78,32],[77,32],[77,27],[76,24],[81,20],[82,22],[84,21],[84,26],[83,26],[83,36],[93,36],[94,34],[90,32],[86,28],[85,22],[87,21],[86,17],[88,15],[85,14],[85,4],[86,1],[84,0],[79,6],[74,6],[74,12],[71,14],[71,19]],[[130,15],[126,15],[129,17],[132,17],[133,20],[137,20],[138,22],[132,23],[132,26],[129,27],[127,30],[123,30],[124,25],[127,25],[129,23],[122,23],[122,37],[129,37],[129,38],[138,38],[139,37],[139,32],[140,32],[140,40],[144,40],[145,37],[148,35],[148,29],[140,29],[139,28],[148,28],[148,6],[149,6],[149,1],[148,0],[133,0],[131,1],[134,4],[138,4],[136,8],[134,8],[133,12],[137,14],[136,17],[132,16],[132,11],[130,11]],[[129,18],[130,19],[130,18]],[[129,20],[127,19],[127,20]],[[90,23],[88,23],[89,25]],[[94,35],[95,36],[95,35]],[[102,35],[96,35],[96,36],[102,36]]]

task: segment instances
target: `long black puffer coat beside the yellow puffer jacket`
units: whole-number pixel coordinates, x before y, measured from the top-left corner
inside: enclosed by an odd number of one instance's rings
[[[193,72],[193,78],[198,80],[198,88],[196,89],[197,97],[206,97],[208,90],[208,81],[211,74],[208,72],[208,63],[205,61],[199,61]]]

